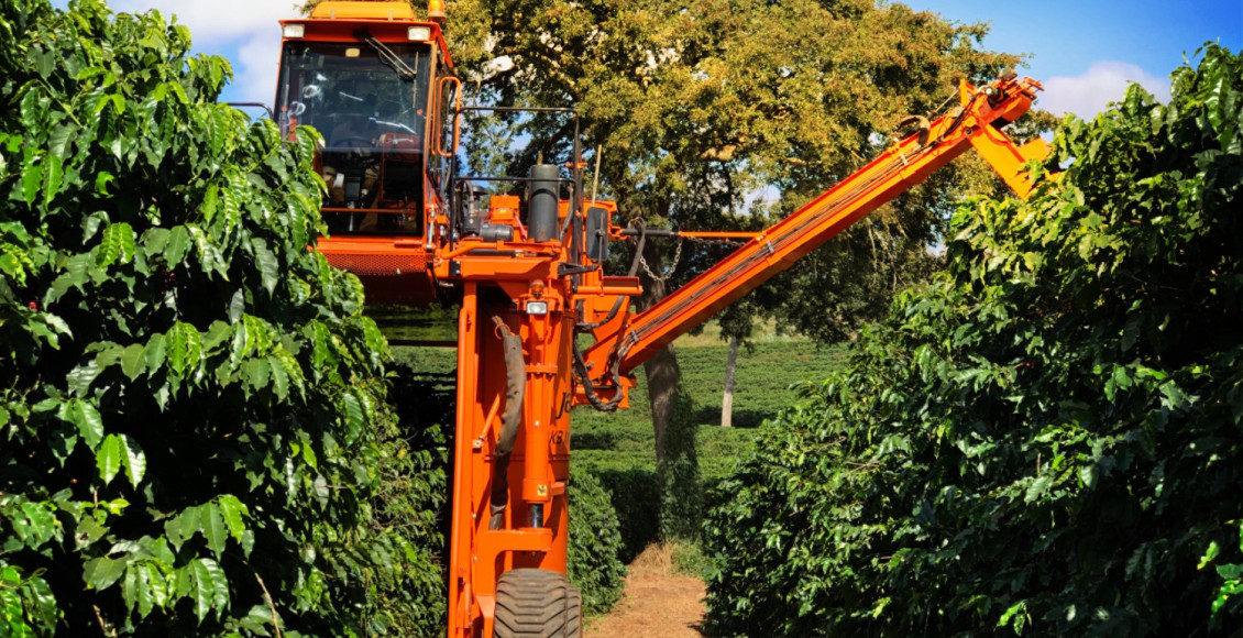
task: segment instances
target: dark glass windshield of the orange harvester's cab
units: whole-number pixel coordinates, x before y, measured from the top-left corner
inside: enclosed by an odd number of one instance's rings
[[[286,42],[277,119],[282,134],[324,138],[316,169],[334,234],[421,231],[429,58],[425,44]]]

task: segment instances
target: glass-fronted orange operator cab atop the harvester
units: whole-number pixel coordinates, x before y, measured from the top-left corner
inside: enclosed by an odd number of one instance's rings
[[[452,119],[440,102],[456,88],[440,26],[406,2],[324,1],[281,29],[281,136],[310,126],[323,137],[317,249],[363,280],[369,302],[385,290],[433,300],[428,254],[451,158],[439,150]]]

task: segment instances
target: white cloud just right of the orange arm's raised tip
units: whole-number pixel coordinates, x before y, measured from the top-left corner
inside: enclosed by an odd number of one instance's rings
[[[1083,75],[1045,80],[1037,106],[1055,116],[1074,113],[1091,118],[1110,102],[1120,102],[1131,82],[1139,83],[1161,102],[1170,101],[1168,78],[1126,62],[1095,62]]]

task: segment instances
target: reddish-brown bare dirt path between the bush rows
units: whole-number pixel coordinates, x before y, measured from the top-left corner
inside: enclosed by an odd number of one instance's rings
[[[701,638],[704,581],[674,571],[656,545],[630,563],[625,593],[608,614],[588,621],[587,638]]]

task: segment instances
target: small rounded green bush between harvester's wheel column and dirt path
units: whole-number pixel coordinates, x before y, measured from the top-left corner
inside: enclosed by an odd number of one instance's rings
[[[609,492],[588,471],[569,473],[569,582],[583,592],[583,613],[600,614],[622,598],[622,532]]]

